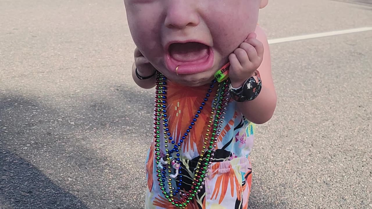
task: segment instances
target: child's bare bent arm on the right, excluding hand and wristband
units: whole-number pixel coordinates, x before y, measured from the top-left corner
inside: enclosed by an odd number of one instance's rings
[[[257,70],[260,72],[262,89],[256,99],[247,102],[238,102],[237,108],[251,122],[266,123],[271,119],[276,108],[276,92],[271,73],[270,49],[264,31],[257,26],[257,39],[264,46],[263,60]]]

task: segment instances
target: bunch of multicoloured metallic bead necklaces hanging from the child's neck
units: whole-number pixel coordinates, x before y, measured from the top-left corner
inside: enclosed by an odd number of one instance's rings
[[[164,196],[168,199],[169,202],[171,202],[173,205],[175,205],[177,208],[185,208],[187,203],[190,202],[190,200],[195,197],[196,194],[201,192],[201,189],[203,188],[203,185],[205,184],[205,178],[208,176],[208,169],[210,168],[210,164],[212,163],[212,159],[215,152],[215,147],[217,147],[217,138],[221,132],[222,123],[224,122],[224,110],[226,110],[226,106],[228,103],[228,80],[225,80],[222,83],[218,84],[218,90],[215,94],[213,106],[212,106],[212,112],[211,116],[209,117],[209,123],[208,128],[206,129],[205,134],[205,141],[203,150],[201,150],[201,155],[198,161],[198,165],[196,167],[195,171],[195,177],[193,178],[191,190],[181,192],[181,186],[182,186],[182,171],[178,169],[180,167],[180,154],[179,149],[181,145],[183,144],[186,137],[189,135],[189,133],[192,131],[193,126],[195,126],[195,123],[197,122],[199,118],[199,114],[203,110],[203,106],[206,105],[206,102],[208,101],[208,98],[211,96],[210,93],[212,93],[212,89],[215,87],[216,80],[213,80],[210,88],[208,89],[208,93],[206,93],[205,98],[203,99],[203,102],[201,103],[201,106],[199,107],[199,110],[196,111],[195,117],[192,119],[192,122],[186,129],[186,132],[181,137],[178,143],[176,143],[176,139],[174,139],[171,134],[170,130],[168,128],[169,120],[167,119],[167,102],[166,102],[166,94],[167,94],[167,78],[164,77],[164,75],[158,73],[157,74],[157,83],[156,83],[156,95],[155,95],[155,113],[154,113],[154,141],[155,141],[155,159],[156,164],[163,164],[163,166],[160,166],[161,168],[157,168],[157,177],[159,181],[159,186],[164,194]],[[160,121],[163,120],[163,129],[164,129],[164,147],[166,151],[166,156],[164,158],[160,157]],[[173,145],[172,148],[169,148],[169,144]],[[173,153],[176,153],[176,157],[173,157]],[[175,165],[175,166],[174,166]],[[171,168],[176,169],[176,174],[170,174]],[[167,171],[169,174],[167,174]],[[178,176],[179,183],[177,184],[177,187],[172,187],[171,183],[171,177],[174,179]],[[166,189],[166,184],[168,185],[169,193]],[[180,194],[180,196],[176,197],[177,194]],[[176,200],[175,200],[176,199]],[[177,201],[178,200],[178,201]]]

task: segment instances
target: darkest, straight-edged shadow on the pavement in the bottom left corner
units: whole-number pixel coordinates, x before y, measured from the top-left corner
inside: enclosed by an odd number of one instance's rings
[[[0,148],[0,197],[13,208],[88,209],[31,163]]]

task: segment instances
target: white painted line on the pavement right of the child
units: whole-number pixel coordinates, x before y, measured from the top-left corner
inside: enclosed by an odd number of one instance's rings
[[[289,41],[299,41],[304,39],[311,39],[311,38],[320,38],[325,36],[334,36],[334,35],[341,35],[341,34],[347,34],[347,33],[356,33],[356,32],[363,32],[372,30],[372,27],[364,27],[364,28],[354,28],[349,30],[337,30],[337,31],[331,31],[331,32],[325,32],[325,33],[314,33],[309,35],[302,35],[302,36],[291,36],[286,38],[277,38],[277,39],[270,39],[269,44],[277,44],[282,42],[289,42]]]

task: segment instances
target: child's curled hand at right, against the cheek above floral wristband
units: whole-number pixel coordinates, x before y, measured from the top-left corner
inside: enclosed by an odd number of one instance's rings
[[[229,56],[229,78],[233,88],[241,87],[262,63],[263,44],[256,37],[256,33],[250,33],[239,48]]]

